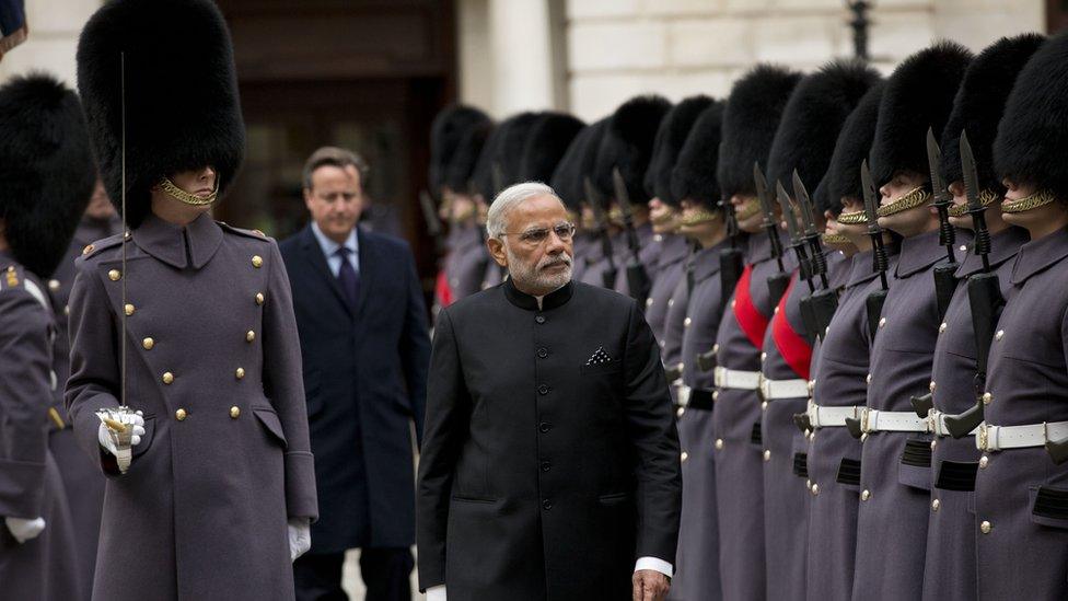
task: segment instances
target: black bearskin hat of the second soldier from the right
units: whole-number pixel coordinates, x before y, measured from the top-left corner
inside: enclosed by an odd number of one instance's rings
[[[961,131],[967,131],[979,189],[995,190],[998,198],[1003,196],[1001,178],[994,171],[994,138],[998,135],[998,123],[1012,91],[1012,82],[1045,41],[1045,36],[1035,33],[1002,37],[979,53],[968,66],[953,101],[953,113],[942,131],[942,176],[947,184],[964,178]]]

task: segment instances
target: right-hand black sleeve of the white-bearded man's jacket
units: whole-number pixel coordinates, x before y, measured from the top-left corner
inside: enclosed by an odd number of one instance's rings
[[[629,320],[625,411],[637,461],[636,556],[674,564],[683,486],[678,432],[660,349],[635,303]]]

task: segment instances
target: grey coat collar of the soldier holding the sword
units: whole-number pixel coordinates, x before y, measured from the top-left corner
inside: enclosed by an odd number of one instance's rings
[[[172,267],[200,269],[222,244],[222,229],[206,212],[185,227],[164,221],[150,212],[134,230],[134,242]]]

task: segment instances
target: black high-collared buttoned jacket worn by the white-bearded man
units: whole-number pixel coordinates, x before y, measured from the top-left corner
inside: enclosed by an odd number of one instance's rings
[[[428,390],[421,589],[629,599],[638,557],[674,562],[678,438],[632,299],[576,282],[539,307],[508,280],[460,301],[439,316]]]

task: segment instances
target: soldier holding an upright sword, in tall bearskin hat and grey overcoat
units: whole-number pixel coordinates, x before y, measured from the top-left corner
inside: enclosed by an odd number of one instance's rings
[[[70,299],[67,406],[108,476],[94,597],[292,599],[317,508],[289,279],[274,240],[207,213],[244,150],[222,15],[109,2],[82,33],[78,83],[130,228],[86,246]],[[143,416],[125,474],[96,415],[124,402]]]

